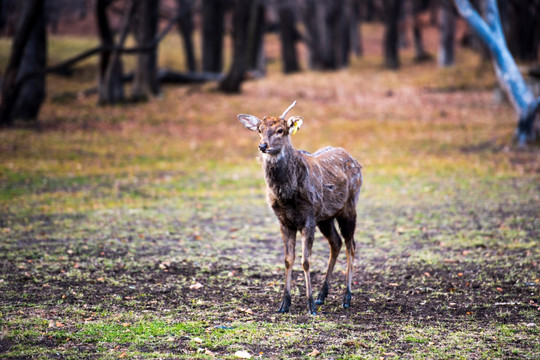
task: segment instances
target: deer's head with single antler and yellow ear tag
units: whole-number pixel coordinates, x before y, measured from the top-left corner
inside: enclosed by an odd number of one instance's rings
[[[262,120],[254,115],[240,114],[238,120],[244,127],[257,131],[261,136],[259,150],[268,155],[277,155],[284,146],[290,145],[289,136],[294,135],[303,119],[301,116],[291,116],[285,120],[287,113],[296,105],[294,101],[280,116],[265,116]]]

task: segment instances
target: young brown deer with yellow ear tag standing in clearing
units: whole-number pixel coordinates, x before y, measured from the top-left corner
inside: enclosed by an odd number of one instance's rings
[[[300,116],[285,120],[294,105],[296,101],[279,117],[267,116],[261,120],[241,114],[238,120],[261,136],[259,150],[262,152],[267,201],[279,220],[285,246],[285,293],[279,312],[288,312],[291,305],[296,233],[300,231],[308,309],[315,315],[315,304],[323,304],[328,295],[342,244],[334,219],[347,249],[347,289],[343,307],[348,308],[351,304],[356,203],[362,186],[362,166],[342,148],[326,147],[314,154],[294,149],[289,135],[296,133],[303,122]],[[313,302],[309,258],[316,226],[330,244],[330,258],[321,291],[317,301]]]

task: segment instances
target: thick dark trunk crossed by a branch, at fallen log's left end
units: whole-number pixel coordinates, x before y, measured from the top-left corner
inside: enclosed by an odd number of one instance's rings
[[[154,0],[140,0],[138,7],[139,21],[136,27],[136,39],[139,46],[151,44],[157,34],[158,5]],[[150,51],[137,55],[132,98],[145,101],[159,93],[157,78],[157,45]]]

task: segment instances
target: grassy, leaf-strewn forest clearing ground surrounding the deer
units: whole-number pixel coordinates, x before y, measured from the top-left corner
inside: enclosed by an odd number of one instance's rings
[[[53,38],[50,53],[93,41]],[[513,143],[491,66],[458,55],[285,76],[271,54],[241,95],[164,87],[113,107],[81,92],[95,63],[51,76],[39,124],[0,131],[0,358],[538,359],[540,151]],[[258,137],[236,120],[293,100],[296,147],[364,166],[352,306],[342,253],[317,316],[298,261],[276,313],[282,241]],[[315,289],[328,254],[317,233]]]

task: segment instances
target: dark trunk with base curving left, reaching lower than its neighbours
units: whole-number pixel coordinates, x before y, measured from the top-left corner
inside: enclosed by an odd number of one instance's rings
[[[219,84],[226,93],[240,93],[240,87],[247,70],[247,37],[251,7],[257,6],[252,0],[235,0],[233,14],[233,61],[227,76]]]

